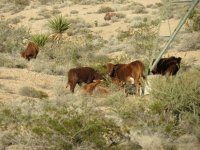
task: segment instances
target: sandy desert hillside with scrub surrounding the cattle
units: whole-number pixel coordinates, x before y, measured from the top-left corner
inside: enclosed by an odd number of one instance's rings
[[[162,26],[188,6],[0,0],[0,149],[199,149],[199,4],[165,54],[182,57],[178,74],[147,76],[148,95],[126,97],[104,67],[141,60],[147,75],[168,41]],[[106,21],[107,12],[116,16]],[[39,46],[30,61],[20,56],[28,41]],[[71,94],[67,72],[80,66],[103,74],[101,86],[109,93],[87,95],[77,85]]]

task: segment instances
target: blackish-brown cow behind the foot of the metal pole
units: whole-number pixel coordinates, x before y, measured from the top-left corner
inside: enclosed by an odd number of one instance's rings
[[[176,58],[174,56],[161,58],[152,70],[152,73],[161,75],[176,75],[180,69],[181,59],[181,57]]]

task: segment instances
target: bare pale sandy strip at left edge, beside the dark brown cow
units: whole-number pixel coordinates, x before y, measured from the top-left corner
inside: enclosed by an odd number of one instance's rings
[[[0,68],[0,101],[20,100],[23,87],[34,87],[44,91],[49,97],[55,97],[53,92],[57,85],[62,84],[63,77],[36,73],[27,69]],[[65,88],[66,83],[63,83]],[[24,97],[25,98],[25,97]]]

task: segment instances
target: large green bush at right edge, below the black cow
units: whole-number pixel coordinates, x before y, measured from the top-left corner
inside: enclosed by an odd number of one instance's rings
[[[199,71],[191,71],[176,77],[156,78],[152,81],[151,94],[154,101],[150,109],[154,114],[160,115],[160,124],[164,127],[164,132],[172,135],[195,133],[196,127],[200,125],[199,75]],[[166,116],[162,117],[166,111],[168,119]]]

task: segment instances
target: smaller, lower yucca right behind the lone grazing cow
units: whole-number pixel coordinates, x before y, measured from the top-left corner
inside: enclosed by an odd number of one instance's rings
[[[36,34],[32,36],[32,40],[38,46],[43,47],[48,41],[48,35],[46,34]]]

